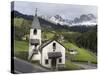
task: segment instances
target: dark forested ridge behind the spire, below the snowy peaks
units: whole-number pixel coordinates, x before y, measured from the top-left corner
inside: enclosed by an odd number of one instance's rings
[[[23,18],[23,19],[32,21],[33,17],[34,17],[32,15],[22,14],[18,11],[15,11],[15,10],[12,11],[11,14],[13,15],[11,19]],[[75,31],[75,32],[86,32],[90,29],[90,27],[97,26],[97,24],[96,25],[89,25],[89,26],[86,26],[86,25],[73,25],[73,26],[60,25],[59,23],[55,24],[55,23],[52,23],[52,22],[50,22],[46,19],[43,19],[41,17],[38,17],[38,18],[39,18],[39,22],[40,22],[42,29],[65,29],[66,31],[71,30],[71,31]]]

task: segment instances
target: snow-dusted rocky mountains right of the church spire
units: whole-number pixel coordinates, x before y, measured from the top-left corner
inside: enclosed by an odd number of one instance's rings
[[[97,24],[97,18],[93,14],[83,14],[80,15],[80,17],[76,17],[73,20],[69,19],[63,19],[60,15],[55,16],[45,16],[42,17],[50,22],[53,22],[55,24],[61,24],[61,25],[69,25],[69,26],[75,26],[75,25],[96,25]]]

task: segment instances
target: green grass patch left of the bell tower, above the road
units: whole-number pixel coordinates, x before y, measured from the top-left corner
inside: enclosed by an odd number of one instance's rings
[[[28,58],[28,42],[14,40],[14,56],[27,60]]]

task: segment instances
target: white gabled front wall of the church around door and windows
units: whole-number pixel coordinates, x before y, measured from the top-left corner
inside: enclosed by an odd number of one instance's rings
[[[47,65],[47,64],[45,64],[45,59],[48,59],[48,52],[53,52],[52,44],[54,42],[56,43],[56,50],[55,50],[55,52],[61,52],[62,53],[62,57],[61,57],[62,63],[59,63],[58,59],[57,59],[57,64],[65,64],[65,48],[62,45],[60,45],[58,42],[52,41],[50,44],[48,44],[42,50],[42,65],[45,66],[45,67],[48,67],[48,68],[51,67],[51,60],[49,59],[49,64]]]

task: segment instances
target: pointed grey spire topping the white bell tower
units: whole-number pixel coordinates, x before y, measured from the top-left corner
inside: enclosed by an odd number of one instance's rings
[[[39,19],[37,17],[37,8],[35,10],[35,16],[33,18],[33,22],[32,22],[32,28],[33,29],[41,29],[41,26],[40,26],[40,22],[39,22]]]

